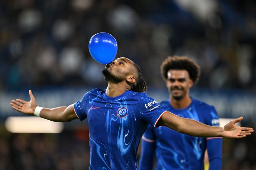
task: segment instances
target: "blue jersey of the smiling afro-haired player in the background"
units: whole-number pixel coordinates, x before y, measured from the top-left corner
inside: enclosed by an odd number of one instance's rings
[[[211,126],[219,126],[219,117],[214,107],[199,100],[192,98],[191,104],[185,109],[174,109],[170,105],[170,99],[163,101],[160,105],[180,117],[194,119]],[[157,170],[204,169],[206,138],[188,136],[164,126],[153,128],[148,125],[142,139],[156,143]]]

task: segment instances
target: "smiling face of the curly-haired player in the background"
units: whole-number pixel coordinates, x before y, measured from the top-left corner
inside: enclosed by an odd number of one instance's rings
[[[193,81],[189,78],[187,70],[169,70],[167,72],[166,86],[169,93],[176,100],[181,100],[189,92]]]

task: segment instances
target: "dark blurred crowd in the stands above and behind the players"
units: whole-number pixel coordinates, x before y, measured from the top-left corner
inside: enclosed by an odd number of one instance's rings
[[[89,39],[112,34],[117,56],[134,60],[150,87],[163,87],[161,62],[187,55],[198,87],[256,89],[256,3],[222,0],[2,0],[0,90],[99,86],[104,67]]]

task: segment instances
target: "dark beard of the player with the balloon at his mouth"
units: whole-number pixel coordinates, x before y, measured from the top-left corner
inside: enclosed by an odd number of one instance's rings
[[[102,69],[101,73],[104,75],[104,79],[108,82],[119,83],[121,81],[124,81],[125,79],[124,73],[120,73],[120,72],[114,73],[113,71],[110,71],[108,67],[105,67],[104,69]]]

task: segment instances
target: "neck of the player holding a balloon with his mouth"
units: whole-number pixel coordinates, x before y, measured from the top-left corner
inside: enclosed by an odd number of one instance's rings
[[[108,83],[108,87],[106,89],[106,95],[109,97],[116,97],[122,95],[124,92],[129,90],[129,85],[120,83]]]

